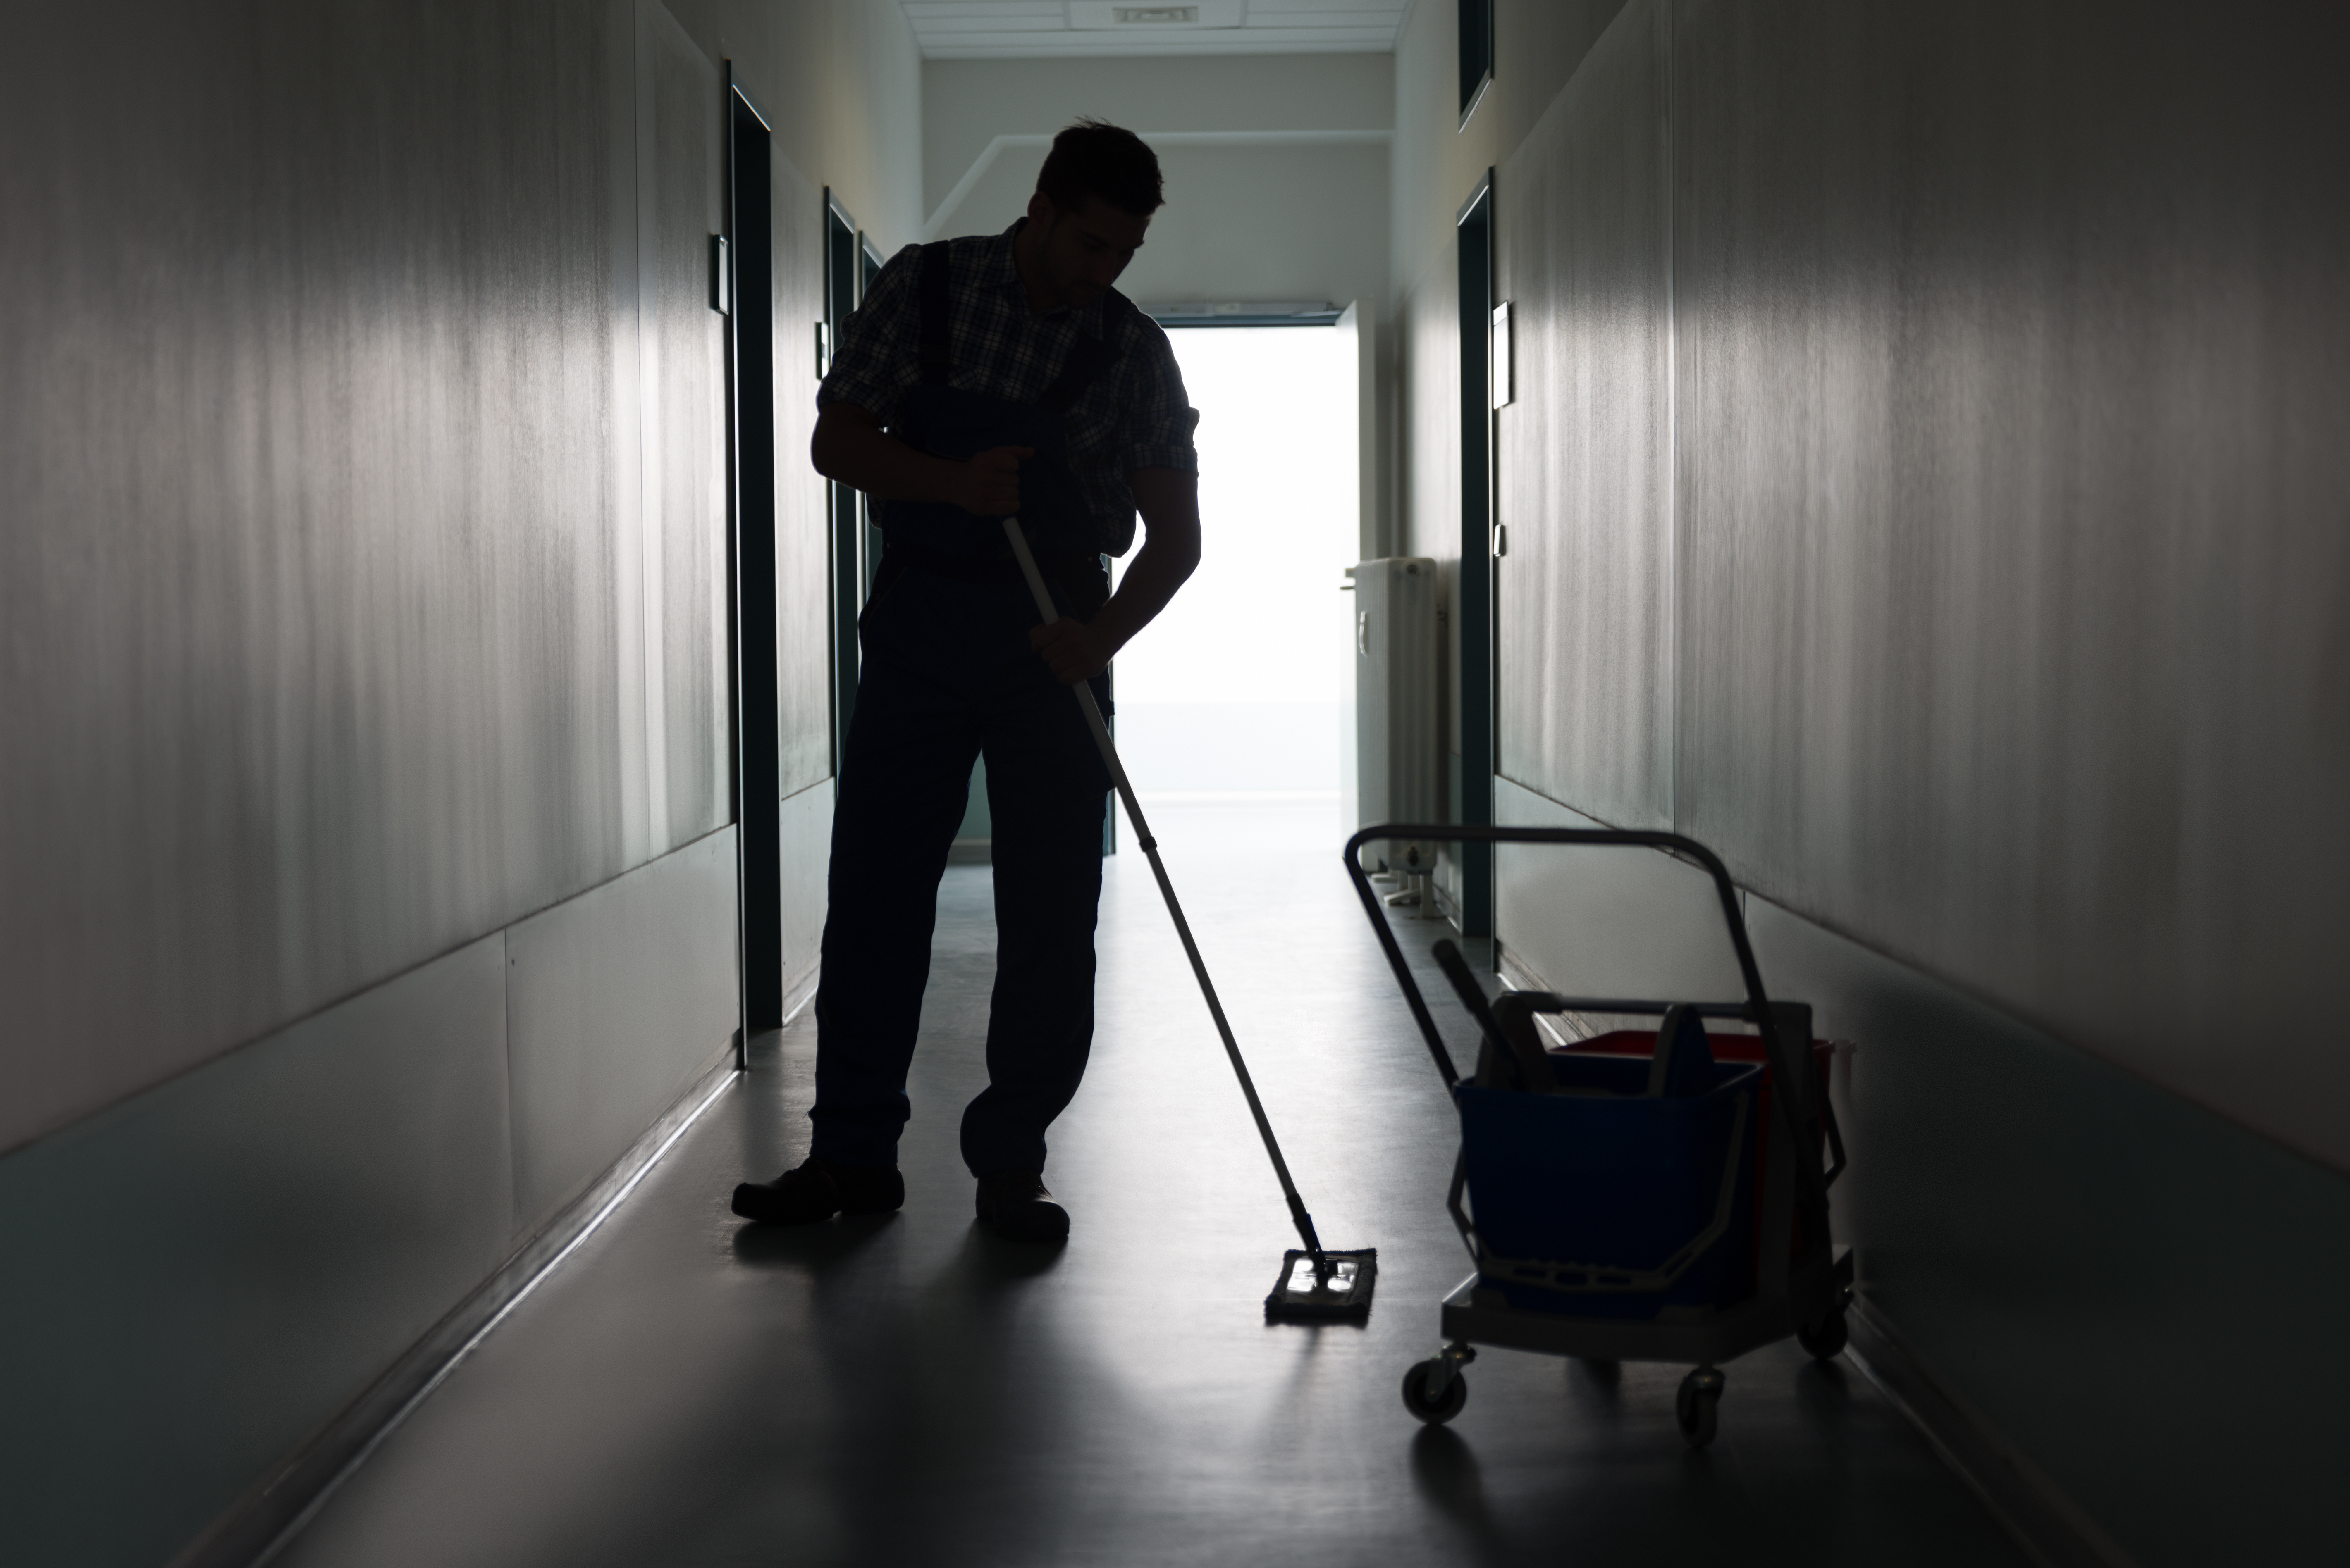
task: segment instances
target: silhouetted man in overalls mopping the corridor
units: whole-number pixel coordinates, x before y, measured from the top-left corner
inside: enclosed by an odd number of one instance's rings
[[[738,1215],[804,1225],[905,1201],[898,1133],[938,879],[985,755],[996,987],[964,1164],[999,1234],[1069,1234],[1043,1133],[1093,1044],[1109,771],[1065,686],[1107,698],[1109,658],[1198,564],[1198,416],[1166,334],[1109,287],[1161,200],[1133,132],[1079,120],[1053,139],[1027,219],[898,252],[841,331],[813,458],[874,498],[886,545],[832,823],[815,1140],[806,1164],[736,1187]],[[1107,555],[1133,543],[1135,510],[1144,543],[1109,595]],[[1003,517],[1053,585],[1050,625]]]

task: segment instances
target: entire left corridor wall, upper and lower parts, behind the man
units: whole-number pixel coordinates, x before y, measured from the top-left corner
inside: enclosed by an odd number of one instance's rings
[[[888,221],[919,122],[891,165],[841,103],[919,61],[895,7],[832,12],[768,26],[752,92]],[[865,73],[822,113],[808,42]],[[42,7],[0,56],[9,1563],[193,1549],[726,1060],[721,85],[656,0]],[[839,176],[776,167],[813,371]],[[794,994],[811,397],[778,397]]]

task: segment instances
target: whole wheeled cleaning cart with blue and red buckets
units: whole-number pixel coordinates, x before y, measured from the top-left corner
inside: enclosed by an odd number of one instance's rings
[[[1396,945],[1361,849],[1377,839],[1643,846],[1713,877],[1746,997],[1657,1001],[1504,992],[1488,999],[1450,940],[1436,961],[1480,1030],[1462,1079]],[[1845,1347],[1852,1253],[1831,1241],[1828,1185],[1845,1168],[1812,1009],[1762,992],[1730,872],[1673,832],[1379,825],[1347,842],[1354,879],[1412,1020],[1462,1121],[1445,1206],[1476,1272],[1443,1300],[1443,1347],[1403,1378],[1403,1403],[1448,1422],[1469,1399],[1478,1345],[1598,1361],[1678,1361],[1676,1418],[1713,1441],[1720,1366],[1798,1335]],[[1542,1016],[1657,1018],[1549,1046]],[[1753,1025],[1708,1032],[1706,1020]],[[1466,1206],[1464,1206],[1466,1197]]]

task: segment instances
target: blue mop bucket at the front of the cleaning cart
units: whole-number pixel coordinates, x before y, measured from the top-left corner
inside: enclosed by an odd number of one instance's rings
[[[1549,1060],[1570,1093],[1455,1091],[1478,1284],[1513,1309],[1607,1319],[1744,1298],[1762,1070],[1690,1063],[1683,1093],[1652,1095],[1647,1058]]]

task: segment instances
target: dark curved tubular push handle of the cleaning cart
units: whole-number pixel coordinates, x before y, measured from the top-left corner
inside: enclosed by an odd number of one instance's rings
[[[1805,1239],[1812,1251],[1826,1258],[1828,1182],[1819,1164],[1819,1145],[1802,1135],[1802,1112],[1812,1098],[1812,1077],[1807,1072],[1812,1041],[1786,1039],[1786,1023],[1762,992],[1762,969],[1755,964],[1753,943],[1746,940],[1746,919],[1739,914],[1739,889],[1730,882],[1730,867],[1723,865],[1720,856],[1697,839],[1685,839],[1678,832],[1654,832],[1643,827],[1478,827],[1466,823],[1379,823],[1377,827],[1363,827],[1347,839],[1347,849],[1342,851],[1347,858],[1347,877],[1354,882],[1354,891],[1363,900],[1363,912],[1370,914],[1370,929],[1379,938],[1386,966],[1396,971],[1396,985],[1403,987],[1403,999],[1412,1009],[1412,1023],[1419,1025],[1419,1037],[1429,1044],[1429,1056],[1436,1060],[1436,1070],[1445,1079],[1445,1091],[1452,1091],[1462,1081],[1459,1067],[1452,1065],[1452,1053],[1445,1051],[1445,1037],[1436,1030],[1436,1018],[1429,1016],[1429,1004],[1419,994],[1419,985],[1412,980],[1412,969],[1403,961],[1403,947],[1396,945],[1396,933],[1386,924],[1386,910],[1379,907],[1379,896],[1370,886],[1370,872],[1363,870],[1363,846],[1379,839],[1664,849],[1694,860],[1708,877],[1713,877],[1713,891],[1723,905],[1723,922],[1730,926],[1730,945],[1739,954],[1739,978],[1746,983],[1746,1023],[1762,1032],[1762,1053],[1770,1058],[1777,1081],[1786,1086],[1786,1091],[1774,1093],[1772,1100],[1779,1107],[1779,1119],[1786,1124],[1788,1143],[1795,1150],[1795,1201],[1805,1215]],[[1838,1145],[1840,1143],[1842,1140],[1838,1138]],[[1838,1150],[1838,1154],[1842,1154],[1842,1150]]]

